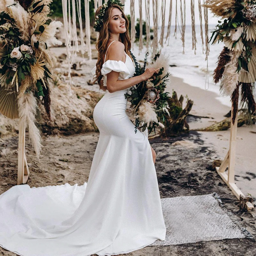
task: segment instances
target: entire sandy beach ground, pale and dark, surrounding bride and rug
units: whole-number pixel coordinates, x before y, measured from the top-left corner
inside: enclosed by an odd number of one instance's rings
[[[80,62],[82,65],[79,68],[80,70],[74,72],[80,75],[72,77],[71,88],[73,95],[68,96],[68,76],[64,74],[68,70],[67,62],[65,57],[62,58],[61,62],[59,61],[60,56],[63,53],[65,54],[65,51],[64,47],[51,48],[56,61],[58,60],[55,72],[59,74],[61,82],[61,85],[58,85],[58,88],[56,87],[54,90],[58,92],[57,89],[61,89],[62,97],[67,99],[70,97],[70,101],[75,103],[79,96],[82,101],[79,103],[80,105],[76,105],[76,108],[72,110],[72,115],[82,116],[85,115],[81,110],[83,109],[83,104],[85,104],[83,102],[88,101],[89,92],[91,93],[90,99],[93,99],[93,92],[98,93],[98,98],[104,94],[103,91],[99,91],[98,84],[87,84],[89,80],[92,81],[90,70],[96,64],[97,55],[95,49],[93,49],[92,61],[87,60],[84,62],[78,54],[75,62]],[[171,67],[170,72],[172,72]],[[253,212],[244,212],[242,216],[237,214],[239,210],[237,198],[218,173],[211,168],[212,162],[217,159],[223,160],[228,151],[229,130],[221,132],[196,131],[196,129],[207,127],[214,122],[225,119],[224,115],[230,111],[230,108],[222,105],[216,99],[219,96],[218,94],[193,87],[184,83],[182,79],[173,76],[171,76],[167,91],[172,92],[172,89],[177,92],[178,97],[180,94],[183,96],[187,94],[188,98],[194,101],[190,114],[209,118],[189,118],[188,124],[191,130],[189,134],[176,138],[160,139],[156,137],[149,140],[156,151],[156,173],[161,197],[203,195],[217,192],[228,210],[237,215],[237,220],[241,221],[241,225],[256,238],[255,214]],[[78,108],[78,106],[81,107]],[[88,105],[90,111],[93,109],[92,106],[93,104]],[[76,113],[76,109],[80,109],[80,112]],[[64,110],[60,109],[60,111]],[[63,112],[62,115],[64,116],[65,113]],[[128,116],[131,114],[129,111],[127,113]],[[58,117],[57,114],[56,118]],[[25,151],[30,169],[27,184],[30,187],[61,185],[66,182],[72,185],[76,183],[83,185],[87,181],[99,138],[99,133],[96,130],[93,131],[92,116],[89,114],[86,114],[89,117],[84,119],[85,123],[81,121],[84,125],[90,124],[91,130],[89,132],[85,127],[79,130],[79,125],[75,132],[69,132],[68,128],[65,128],[66,130],[64,131],[61,125],[57,127],[56,124],[55,127],[50,123],[48,126],[43,126],[43,149],[40,159],[36,158],[31,143],[28,139],[26,140]],[[132,120],[132,116],[129,117]],[[69,124],[72,118],[67,115],[66,119]],[[0,137],[0,194],[16,185],[18,162],[17,120],[10,124],[8,123],[8,129],[4,126],[3,120],[3,116],[0,116],[0,121],[2,122],[0,127],[2,129],[0,130],[2,134]],[[63,120],[62,123],[64,122]],[[74,123],[71,124],[73,125]],[[235,172],[236,185],[245,195],[250,193],[254,199],[256,199],[255,132],[256,125],[238,128]],[[26,136],[28,138],[28,132]],[[174,142],[175,144],[173,144]],[[255,200],[254,204],[256,204]],[[4,256],[16,255],[2,248],[0,253]],[[194,244],[148,246],[127,255],[255,256],[256,248],[255,240],[252,239],[225,239]]]

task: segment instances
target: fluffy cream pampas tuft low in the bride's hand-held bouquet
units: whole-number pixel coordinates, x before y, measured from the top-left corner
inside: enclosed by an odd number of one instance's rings
[[[141,102],[136,117],[138,117],[141,121],[147,123],[147,127],[149,126],[150,122],[158,123],[155,106],[146,100],[143,100]]]

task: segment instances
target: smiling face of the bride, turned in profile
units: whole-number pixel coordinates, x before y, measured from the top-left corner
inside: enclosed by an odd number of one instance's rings
[[[113,8],[110,12],[108,29],[113,34],[121,34],[126,31],[123,13],[118,8]]]

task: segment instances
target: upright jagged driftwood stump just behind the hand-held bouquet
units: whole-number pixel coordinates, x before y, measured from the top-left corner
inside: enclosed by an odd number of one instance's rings
[[[162,137],[173,137],[189,131],[186,117],[193,106],[193,101],[188,100],[186,107],[182,109],[183,100],[184,97],[182,95],[180,95],[180,99],[178,100],[176,92],[173,92],[172,98],[168,100],[170,116],[165,114],[166,123],[161,133]]]

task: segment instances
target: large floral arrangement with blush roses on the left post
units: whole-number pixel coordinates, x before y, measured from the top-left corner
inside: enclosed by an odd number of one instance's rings
[[[28,125],[36,156],[41,137],[35,116],[41,100],[51,120],[52,60],[44,49],[62,44],[55,38],[62,23],[48,17],[51,2],[35,0],[28,10],[14,0],[0,3],[0,113]]]

